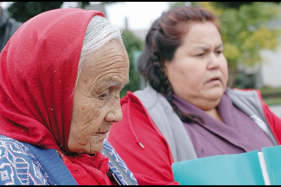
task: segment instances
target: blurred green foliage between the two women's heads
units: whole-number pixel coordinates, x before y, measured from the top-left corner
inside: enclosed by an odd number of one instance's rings
[[[140,89],[140,80],[138,73],[134,69],[133,65],[133,53],[134,51],[140,51],[143,49],[143,41],[136,37],[133,32],[129,30],[123,30],[124,36],[124,45],[128,52],[129,60],[130,60],[130,70],[129,70],[129,83],[124,87],[124,89],[120,93],[120,97],[126,95],[127,91],[136,91]]]

